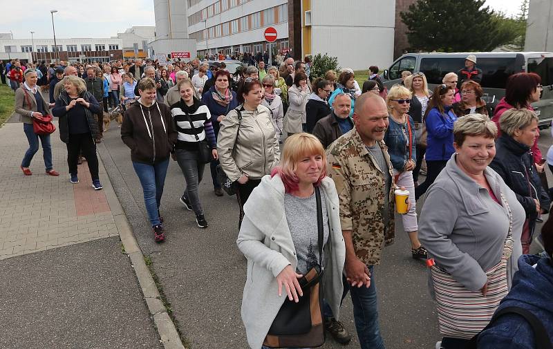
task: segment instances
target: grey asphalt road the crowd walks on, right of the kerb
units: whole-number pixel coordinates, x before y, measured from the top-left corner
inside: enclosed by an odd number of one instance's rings
[[[548,131],[543,135],[541,143],[546,150],[551,137]],[[235,243],[238,205],[234,197],[216,197],[206,169],[200,198],[209,228],[198,229],[194,214],[178,202],[184,179],[176,162],[171,162],[161,208],[167,241],[156,245],[129,150],[122,144],[116,125],[111,125],[99,151],[137,240],[144,254],[152,257],[178,328],[191,347],[247,348],[240,318],[246,264]],[[427,290],[427,270],[411,258],[406,234],[396,232],[396,236],[396,243],[384,250],[374,279],[386,347],[434,348],[440,335]],[[347,348],[359,348],[349,297],[344,301],[342,320],[354,338]],[[323,348],[344,347],[329,339]]]

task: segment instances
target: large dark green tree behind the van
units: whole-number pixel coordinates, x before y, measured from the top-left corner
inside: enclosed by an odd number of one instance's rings
[[[411,50],[489,51],[512,37],[498,29],[485,0],[419,0],[400,16],[409,31]],[[505,41],[507,40],[507,41]]]

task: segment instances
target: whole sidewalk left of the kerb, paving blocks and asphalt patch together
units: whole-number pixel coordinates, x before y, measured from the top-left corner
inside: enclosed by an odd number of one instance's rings
[[[73,185],[58,131],[51,142],[60,176],[44,173],[41,149],[24,176],[23,126],[0,128],[0,348],[163,348],[134,270],[140,281],[142,253],[132,247],[132,265],[122,250],[123,230],[125,247],[135,243],[102,162],[104,190],[86,162]]]

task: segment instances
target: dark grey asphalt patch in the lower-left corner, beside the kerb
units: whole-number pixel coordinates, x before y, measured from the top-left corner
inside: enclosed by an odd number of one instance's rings
[[[0,261],[0,348],[162,348],[118,237]]]

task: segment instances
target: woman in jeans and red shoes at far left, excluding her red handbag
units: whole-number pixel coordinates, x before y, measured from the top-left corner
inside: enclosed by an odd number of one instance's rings
[[[15,112],[19,114],[19,121],[23,122],[23,131],[29,142],[23,161],[21,161],[21,171],[25,176],[31,176],[30,162],[32,157],[39,151],[39,139],[42,144],[44,157],[44,167],[48,176],[59,176],[59,173],[53,169],[52,164],[52,145],[50,144],[50,135],[37,135],[32,126],[34,117],[42,117],[48,114],[50,105],[42,98],[39,86],[37,86],[37,72],[35,69],[25,70],[25,82],[17,91],[15,91]]]

